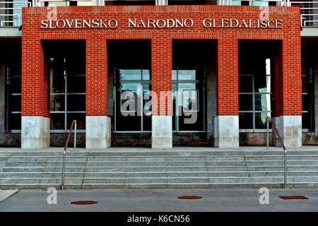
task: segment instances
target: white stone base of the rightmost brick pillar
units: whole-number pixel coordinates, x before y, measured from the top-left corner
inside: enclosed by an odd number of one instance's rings
[[[273,117],[279,135],[286,148],[299,148],[302,146],[302,117],[294,115],[282,115]],[[281,142],[273,129],[273,145],[281,147]]]

